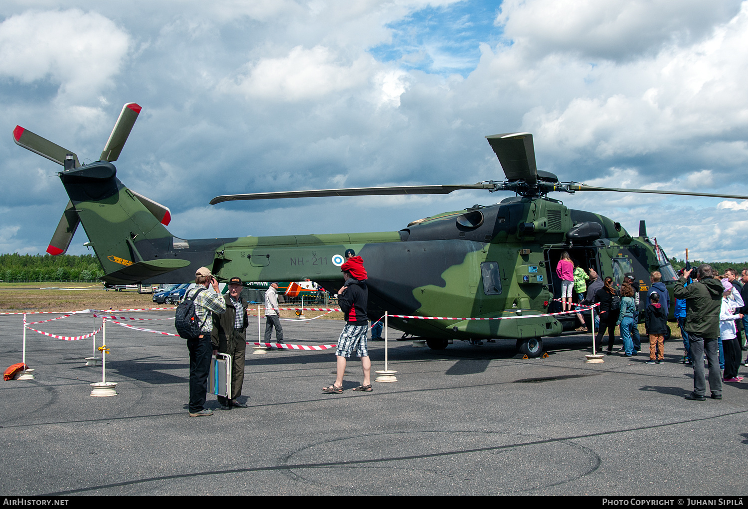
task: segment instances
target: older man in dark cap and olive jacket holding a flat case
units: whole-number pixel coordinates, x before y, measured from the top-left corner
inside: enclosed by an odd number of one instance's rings
[[[244,383],[244,363],[247,353],[247,301],[242,298],[242,280],[232,277],[229,280],[229,292],[224,295],[226,312],[222,315],[213,313],[213,331],[210,340],[213,344],[213,355],[228,354],[231,356],[231,394],[229,398],[218,396],[221,410],[231,407],[246,408],[239,401]]]

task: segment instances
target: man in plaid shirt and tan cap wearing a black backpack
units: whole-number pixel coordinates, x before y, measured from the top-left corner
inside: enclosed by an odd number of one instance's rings
[[[200,267],[194,273],[195,288],[185,293],[185,299],[194,296],[194,312],[200,320],[200,336],[197,339],[188,339],[189,350],[189,416],[203,417],[212,416],[212,410],[204,407],[205,396],[208,392],[208,374],[210,372],[210,357],[212,345],[210,333],[213,330],[211,313],[222,313],[226,311],[226,302],[218,291],[218,281],[206,267]],[[208,287],[212,286],[213,291]]]

